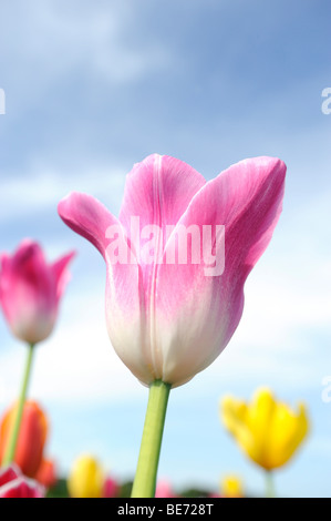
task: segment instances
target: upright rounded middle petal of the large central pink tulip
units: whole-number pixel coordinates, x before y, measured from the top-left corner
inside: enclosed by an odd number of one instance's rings
[[[167,241],[167,225],[175,226],[205,178],[183,161],[152,154],[134,165],[127,175],[120,221],[131,247],[143,266],[147,299],[153,290],[154,262],[143,255],[146,239],[153,242],[153,257],[162,256]],[[133,219],[138,223],[133,226]],[[144,244],[145,239],[145,244]]]

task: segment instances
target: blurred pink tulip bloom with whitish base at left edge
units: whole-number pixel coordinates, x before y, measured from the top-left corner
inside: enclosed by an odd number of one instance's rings
[[[14,336],[37,344],[51,334],[73,255],[46,264],[39,244],[30,239],[12,256],[0,255],[0,304]]]

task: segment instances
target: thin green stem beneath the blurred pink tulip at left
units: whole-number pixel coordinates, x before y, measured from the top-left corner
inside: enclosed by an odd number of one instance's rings
[[[18,407],[14,409],[15,416],[14,416],[13,425],[10,431],[6,452],[3,456],[2,466],[10,464],[14,460],[15,448],[17,448],[17,442],[19,438],[20,426],[21,426],[21,420],[22,420],[22,415],[23,415],[23,407],[24,407],[24,401],[27,397],[29,377],[31,372],[32,354],[33,354],[33,344],[30,344],[29,349],[28,349],[28,358],[27,358],[25,370],[24,370],[23,380],[22,380],[21,392],[20,392],[20,397],[18,401]]]

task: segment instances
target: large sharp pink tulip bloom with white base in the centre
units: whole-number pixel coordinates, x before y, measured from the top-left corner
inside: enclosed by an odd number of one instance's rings
[[[245,280],[278,222],[285,174],[280,160],[256,157],[206,182],[187,164],[153,154],[128,174],[118,219],[90,195],[60,202],[62,219],[105,258],[108,335],[143,384],[179,386],[226,347],[242,314]],[[224,270],[216,266],[221,226]],[[201,242],[185,263],[177,237],[193,228]]]

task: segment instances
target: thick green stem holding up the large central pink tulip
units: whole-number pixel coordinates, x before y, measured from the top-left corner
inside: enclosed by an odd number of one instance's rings
[[[154,498],[157,467],[170,385],[155,380],[149,387],[148,405],[132,498]]]

